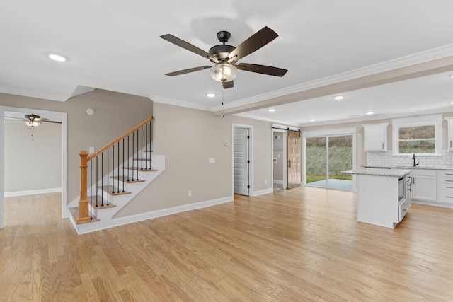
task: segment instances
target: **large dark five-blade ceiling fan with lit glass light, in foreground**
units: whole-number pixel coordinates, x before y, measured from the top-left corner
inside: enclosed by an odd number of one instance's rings
[[[259,50],[264,45],[268,44],[270,41],[278,37],[275,31],[271,30],[267,26],[259,30],[257,33],[248,37],[247,40],[242,42],[238,47],[231,45],[226,45],[231,33],[222,30],[217,33],[217,39],[223,44],[215,45],[210,48],[209,52],[205,52],[200,48],[181,40],[174,35],[166,34],[161,35],[161,38],[171,42],[179,47],[183,47],[190,52],[199,54],[202,57],[209,59],[214,66],[199,66],[190,69],[184,69],[180,71],[174,71],[167,76],[178,76],[180,74],[188,74],[193,71],[200,71],[204,69],[211,69],[212,79],[215,81],[222,82],[224,88],[231,88],[234,86],[233,80],[236,77],[237,69],[244,71],[256,72],[258,74],[268,74],[270,76],[284,76],[287,72],[287,69],[281,69],[273,66],[265,66],[259,64],[249,64],[249,63],[239,63],[236,64],[243,57],[248,56],[252,52]]]

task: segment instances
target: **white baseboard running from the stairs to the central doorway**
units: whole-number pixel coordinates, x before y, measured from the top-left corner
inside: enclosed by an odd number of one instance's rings
[[[122,226],[124,224],[144,221],[144,220],[148,220],[148,219],[154,219],[157,217],[167,216],[167,215],[171,215],[171,214],[177,214],[177,213],[181,213],[184,211],[192,211],[195,209],[212,207],[217,204],[224,204],[225,202],[232,202],[233,200],[234,200],[234,197],[229,196],[229,197],[223,197],[223,198],[219,198],[219,199],[212,199],[212,200],[208,200],[205,202],[195,202],[194,204],[184,204],[184,205],[178,206],[178,207],[171,207],[171,208],[167,208],[167,209],[160,209],[160,210],[156,210],[156,211],[149,211],[146,213],[115,218],[115,219],[112,219],[112,226]]]

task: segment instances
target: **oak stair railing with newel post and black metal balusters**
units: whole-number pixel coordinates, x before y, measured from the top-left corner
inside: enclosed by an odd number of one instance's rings
[[[95,203],[95,208],[108,207],[110,205],[109,193],[124,193],[124,184],[126,181],[138,181],[139,170],[151,170],[151,150],[149,150],[148,146],[151,145],[152,139],[152,120],[153,117],[147,118],[147,120],[144,120],[136,127],[130,129],[125,134],[122,134],[121,137],[118,137],[115,141],[112,141],[110,144],[104,146],[90,156],[88,156],[89,153],[87,151],[80,152],[80,200],[79,217],[77,218],[76,223],[84,223],[93,219],[93,214],[91,213],[93,202]],[[130,156],[134,156],[135,154],[137,155],[137,158],[132,158],[131,160]],[[121,164],[123,165],[122,175],[120,175]],[[90,175],[89,200],[88,170]],[[112,173],[111,182],[110,173]],[[122,187],[120,187],[120,180],[122,182]],[[98,182],[101,182],[101,195],[98,195],[97,193]],[[104,182],[106,185],[104,185]],[[117,185],[116,187],[115,182]],[[94,187],[94,195],[93,184],[96,185]],[[106,199],[104,198],[105,190],[107,191],[107,193],[105,193]]]

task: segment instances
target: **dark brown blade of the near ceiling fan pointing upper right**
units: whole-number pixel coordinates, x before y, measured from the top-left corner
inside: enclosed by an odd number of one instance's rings
[[[268,44],[270,41],[278,37],[275,31],[271,30],[267,26],[259,30],[257,33],[248,37],[247,40],[241,43],[236,49],[228,54],[226,61],[239,61],[243,57],[246,57],[248,54],[259,50],[264,45]]]

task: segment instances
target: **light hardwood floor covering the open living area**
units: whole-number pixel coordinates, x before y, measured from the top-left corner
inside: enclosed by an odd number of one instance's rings
[[[6,199],[0,301],[453,301],[452,209],[382,228],[300,187],[77,236],[59,202]]]

